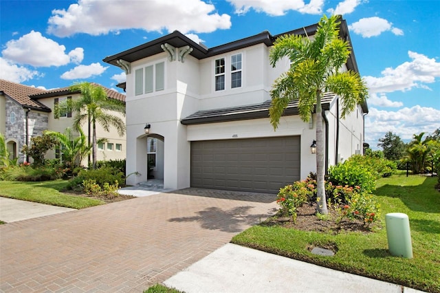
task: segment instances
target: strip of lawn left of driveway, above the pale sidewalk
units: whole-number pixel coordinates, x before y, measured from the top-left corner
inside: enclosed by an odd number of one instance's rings
[[[0,196],[76,209],[104,204],[98,199],[60,193],[66,185],[67,180],[45,182],[0,181]]]

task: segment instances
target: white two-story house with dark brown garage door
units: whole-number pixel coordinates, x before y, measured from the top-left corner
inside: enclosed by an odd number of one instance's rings
[[[316,28],[285,34],[310,37]],[[292,102],[276,131],[270,124],[270,89],[289,67],[287,59],[275,68],[269,62],[281,35],[265,31],[208,49],[175,31],[104,58],[126,72],[126,172],[140,173],[127,183],[146,181],[152,161],[165,188],[276,193],[316,171],[317,114],[305,123]],[[350,41],[344,20],[340,35]],[[344,69],[358,72],[354,52]],[[322,107],[327,166],[362,153],[367,105],[345,120],[337,96],[326,94]]]

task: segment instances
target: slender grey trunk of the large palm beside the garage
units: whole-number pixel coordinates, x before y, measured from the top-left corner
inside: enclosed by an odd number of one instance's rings
[[[316,92],[316,211],[327,215],[327,199],[325,196],[325,137],[322,131],[321,92]]]

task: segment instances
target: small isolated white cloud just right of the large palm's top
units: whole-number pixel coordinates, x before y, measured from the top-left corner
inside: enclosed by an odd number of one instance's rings
[[[349,25],[349,29],[355,34],[362,35],[364,38],[379,36],[382,32],[388,30],[391,30],[391,32],[397,36],[402,36],[404,34],[399,28],[394,28],[393,23],[388,22],[386,19],[381,19],[380,17],[360,19],[358,22]]]

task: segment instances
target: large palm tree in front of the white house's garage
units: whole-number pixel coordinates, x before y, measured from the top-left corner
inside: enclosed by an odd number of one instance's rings
[[[283,111],[290,101],[298,100],[300,118],[308,122],[316,105],[316,175],[317,211],[327,214],[325,198],[325,137],[322,131],[321,96],[333,92],[342,102],[342,118],[345,118],[356,105],[368,96],[368,90],[358,73],[340,72],[349,58],[351,47],[339,38],[339,17],[327,18],[318,23],[314,39],[306,36],[287,35],[278,38],[270,52],[270,63],[275,67],[277,61],[288,57],[291,65],[287,72],[278,77],[270,95],[270,122],[278,127]]]

